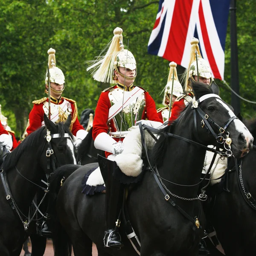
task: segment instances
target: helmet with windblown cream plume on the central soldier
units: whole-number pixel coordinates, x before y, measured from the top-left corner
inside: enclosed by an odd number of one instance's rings
[[[119,73],[118,67],[135,70],[136,60],[130,51],[124,49],[124,45],[122,43],[122,29],[117,27],[114,29],[113,33],[114,36],[111,42],[103,49],[103,51],[108,49],[107,53],[102,55],[102,51],[95,61],[89,61],[91,65],[87,67],[87,71],[91,70],[93,78],[96,81],[105,83],[117,83],[114,70],[116,70],[116,72],[125,79],[134,80],[136,75],[128,77]]]

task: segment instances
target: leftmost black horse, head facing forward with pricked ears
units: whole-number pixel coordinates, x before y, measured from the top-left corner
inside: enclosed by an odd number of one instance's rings
[[[1,170],[0,182],[0,255],[19,256],[24,241],[35,231],[35,216],[30,211],[38,187],[45,188],[41,180],[55,167],[76,163],[71,118],[55,125],[44,116],[45,127],[26,137],[8,154]],[[7,200],[8,199],[8,200]],[[12,209],[13,208],[13,209]],[[33,237],[33,236],[31,236]],[[45,239],[38,241],[45,249]],[[32,240],[32,253],[36,246]],[[44,251],[33,255],[43,255]]]

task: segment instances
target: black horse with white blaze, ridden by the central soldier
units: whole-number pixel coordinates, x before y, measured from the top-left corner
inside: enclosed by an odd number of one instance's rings
[[[214,122],[211,120],[210,126],[213,134],[220,132],[218,125],[225,127],[225,124],[229,124],[224,134],[227,136],[229,133],[232,139],[231,150],[234,156],[241,157],[241,151],[248,151],[252,147],[253,137],[240,120],[234,119],[234,113],[226,103],[213,95],[212,90],[204,84],[194,82],[193,91],[198,99],[193,103],[194,108],[189,104],[176,122],[163,128],[160,131],[163,135],[153,149],[154,159],[151,161],[156,165],[169,192],[166,192],[166,196],[163,195],[152,171],[145,171],[143,180],[129,191],[127,207],[132,226],[141,242],[141,256],[196,256],[198,242],[204,232],[205,217],[198,200],[199,184],[197,183],[201,177],[206,149],[194,143],[169,137],[166,132],[203,145],[216,145],[217,136],[208,133],[206,125],[202,125],[201,122],[202,119],[204,123],[207,122],[206,119],[212,119]],[[204,111],[203,117],[200,116],[197,107]],[[96,166],[98,164],[88,164],[81,166],[75,172],[73,171],[76,166],[73,170],[72,166],[69,168],[64,166],[54,175],[58,184],[65,173],[69,175],[73,172],[59,192],[58,187],[52,187],[53,192],[58,192],[56,209],[61,223],[59,230],[55,229],[56,233],[53,237],[55,256],[71,255],[71,244],[75,256],[91,256],[92,241],[97,246],[99,256],[137,255],[125,236],[122,224],[120,233],[125,247],[121,250],[104,247],[105,194],[85,196],[79,186],[84,175]],[[181,210],[169,204],[171,201],[168,202],[169,198],[186,213],[181,214]]]

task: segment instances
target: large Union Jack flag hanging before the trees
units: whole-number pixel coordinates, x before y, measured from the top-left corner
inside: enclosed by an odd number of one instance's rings
[[[193,37],[215,78],[224,79],[230,0],[160,0],[148,53],[188,68]]]

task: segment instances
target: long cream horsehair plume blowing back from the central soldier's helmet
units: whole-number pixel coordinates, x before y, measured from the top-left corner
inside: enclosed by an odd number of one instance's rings
[[[91,74],[96,81],[113,83],[114,57],[120,51],[119,41],[123,40],[122,29],[116,27],[113,31],[112,40],[103,48],[99,56],[94,61],[87,61],[91,64],[87,71],[92,70]],[[104,55],[104,52],[107,53]]]

